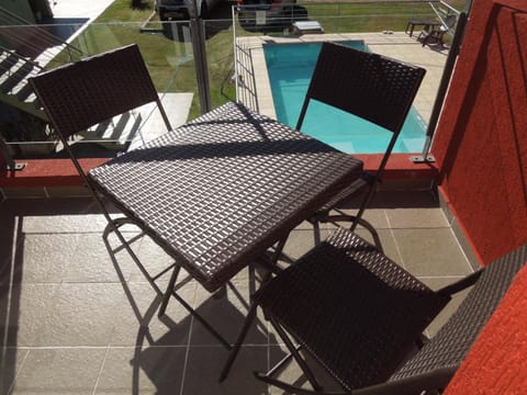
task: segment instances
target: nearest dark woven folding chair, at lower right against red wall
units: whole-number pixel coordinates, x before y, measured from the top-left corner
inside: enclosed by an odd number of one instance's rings
[[[325,394],[312,370],[315,361],[340,384],[343,394],[445,388],[526,261],[524,246],[434,292],[373,246],[339,228],[255,295],[249,316],[261,307],[291,352],[267,374],[255,374],[288,394]],[[423,329],[451,295],[472,285],[447,324],[407,360],[423,339]],[[312,357],[311,365],[304,352]],[[314,391],[273,377],[291,356]]]

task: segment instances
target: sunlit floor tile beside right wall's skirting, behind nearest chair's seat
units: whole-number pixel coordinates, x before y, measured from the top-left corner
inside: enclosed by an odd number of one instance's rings
[[[402,264],[414,275],[463,275],[471,271],[449,228],[393,229]]]

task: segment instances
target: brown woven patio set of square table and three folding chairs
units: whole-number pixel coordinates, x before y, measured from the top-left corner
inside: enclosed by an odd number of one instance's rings
[[[377,54],[324,43],[298,129],[310,100],[316,99],[384,126],[396,137],[424,72]],[[115,234],[162,295],[159,315],[173,296],[229,350],[222,380],[259,306],[314,392],[273,379],[283,363],[257,374],[267,383],[290,393],[323,393],[303,358],[306,352],[346,393],[444,388],[526,260],[523,248],[487,270],[431,291],[352,233],[363,224],[374,234],[361,216],[394,139],[380,171],[366,174],[362,162],[351,155],[242,103],[226,103],[172,131],[136,45],[47,71],[33,78],[32,84],[103,210],[104,238]],[[86,173],[69,137],[148,102],[157,103],[168,132]],[[363,199],[357,216],[329,215],[359,192]],[[108,203],[124,216],[115,217]],[[351,229],[338,228],[283,269],[279,260],[288,235],[304,219],[315,225],[351,222]],[[173,258],[173,266],[159,274],[148,273],[121,232],[126,224],[149,236]],[[233,346],[178,294],[177,282],[184,269],[215,292],[254,262],[264,264],[268,275],[253,295]],[[157,280],[168,273],[170,281],[162,291]],[[408,350],[423,346],[421,334],[451,294],[474,283],[460,312],[407,361]]]

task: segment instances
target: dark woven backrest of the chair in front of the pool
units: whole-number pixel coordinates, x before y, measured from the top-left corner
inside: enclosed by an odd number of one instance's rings
[[[307,95],[399,132],[425,70],[378,54],[340,47],[323,44]]]

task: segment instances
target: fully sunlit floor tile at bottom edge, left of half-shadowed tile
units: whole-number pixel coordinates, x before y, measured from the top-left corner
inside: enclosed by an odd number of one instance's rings
[[[92,394],[104,348],[32,349],[12,394]]]

